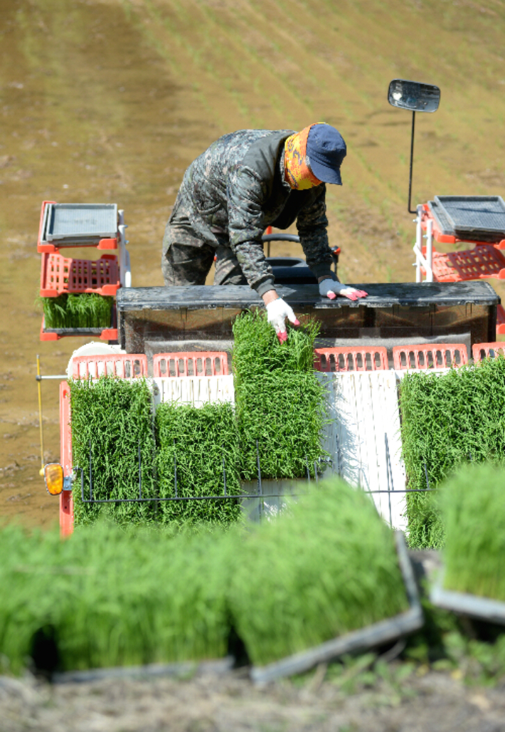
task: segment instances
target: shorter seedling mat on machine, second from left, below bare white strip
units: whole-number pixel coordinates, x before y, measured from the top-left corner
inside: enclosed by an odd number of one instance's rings
[[[231,404],[160,404],[156,443],[160,496],[175,496],[175,463],[178,496],[223,496],[224,471],[228,495],[240,493],[238,430]],[[160,511],[164,521],[178,523],[227,524],[241,515],[235,499],[162,501]]]

